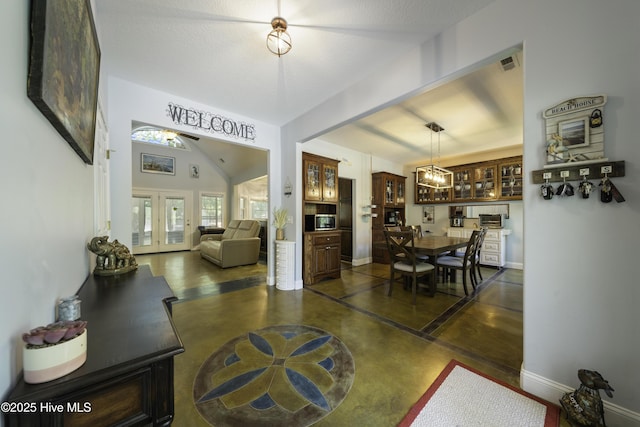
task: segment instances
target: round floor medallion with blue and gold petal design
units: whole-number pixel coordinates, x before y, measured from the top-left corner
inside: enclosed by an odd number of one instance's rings
[[[308,426],[340,405],[354,376],[351,352],[332,334],[269,326],[209,356],[196,375],[193,399],[215,426]]]

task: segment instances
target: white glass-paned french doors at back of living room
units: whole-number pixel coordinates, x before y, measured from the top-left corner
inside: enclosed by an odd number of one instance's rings
[[[191,249],[191,193],[133,189],[132,251],[135,254]]]

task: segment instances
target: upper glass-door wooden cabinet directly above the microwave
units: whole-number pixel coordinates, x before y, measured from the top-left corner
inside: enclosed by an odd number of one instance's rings
[[[302,153],[304,200],[338,203],[338,161]]]

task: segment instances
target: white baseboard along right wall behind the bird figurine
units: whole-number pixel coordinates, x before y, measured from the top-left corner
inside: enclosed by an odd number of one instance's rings
[[[578,381],[577,378],[576,381]],[[577,386],[578,384],[576,384],[576,387]],[[528,393],[554,403],[558,403],[563,394],[573,391],[576,388],[568,387],[524,369],[520,371],[520,387]],[[608,426],[634,427],[640,425],[640,413],[631,411],[607,400],[603,400],[603,403],[604,418]]]

